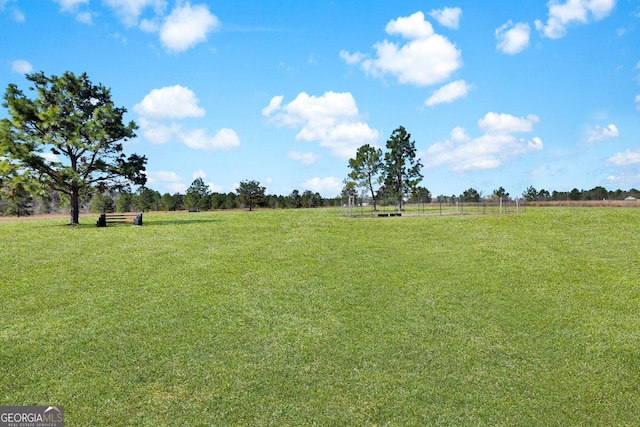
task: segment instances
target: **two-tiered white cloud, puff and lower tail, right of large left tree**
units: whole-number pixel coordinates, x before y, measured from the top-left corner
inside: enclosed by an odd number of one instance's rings
[[[204,117],[196,94],[189,88],[175,85],[153,89],[134,105],[140,115],[142,135],[153,144],[178,140],[199,150],[229,150],[240,145],[233,129],[223,128],[210,135],[207,129],[185,129],[176,119]]]

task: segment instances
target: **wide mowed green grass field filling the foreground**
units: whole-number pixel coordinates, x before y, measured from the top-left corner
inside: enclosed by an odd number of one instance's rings
[[[0,223],[0,405],[66,426],[640,424],[640,209]]]

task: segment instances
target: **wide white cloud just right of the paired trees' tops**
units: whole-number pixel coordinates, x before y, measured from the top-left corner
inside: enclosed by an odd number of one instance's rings
[[[485,133],[472,138],[461,127],[451,131],[444,142],[437,142],[421,155],[425,167],[448,166],[454,171],[495,169],[508,160],[542,150],[544,144],[538,137],[529,140],[519,138],[519,133],[529,133],[538,118],[529,115],[527,119],[510,114],[487,113],[478,120],[478,126]]]

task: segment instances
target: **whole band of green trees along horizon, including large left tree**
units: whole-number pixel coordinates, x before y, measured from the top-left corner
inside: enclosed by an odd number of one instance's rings
[[[193,181],[185,194],[160,194],[148,188],[144,155],[126,156],[123,141],[135,137],[136,123],[123,122],[126,109],[115,107],[111,91],[93,84],[86,73],[65,72],[47,76],[27,74],[27,96],[9,84],[2,106],[9,112],[0,120],[0,214],[70,212],[70,224],[79,223],[80,211],[171,211],[254,207],[313,208],[344,205],[354,198],[375,210],[378,205],[430,203],[423,186],[415,141],[402,126],[391,134],[386,152],[363,145],[349,160],[349,174],[340,195],[323,198],[317,192],[293,190],[268,195],[257,181],[242,181],[235,192],[211,192],[202,179]],[[584,191],[549,192],[529,187],[527,200],[601,200],[640,196],[630,191],[596,187]],[[460,195],[438,196],[439,202],[479,202],[510,195],[503,187],[487,197],[474,188]],[[519,197],[519,196],[517,196]]]

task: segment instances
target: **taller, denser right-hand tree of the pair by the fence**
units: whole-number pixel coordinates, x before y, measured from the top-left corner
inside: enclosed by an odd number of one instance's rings
[[[416,159],[416,143],[411,134],[400,126],[387,141],[388,152],[384,155],[384,188],[397,201],[402,210],[405,197],[409,196],[422,181],[422,164]]]

